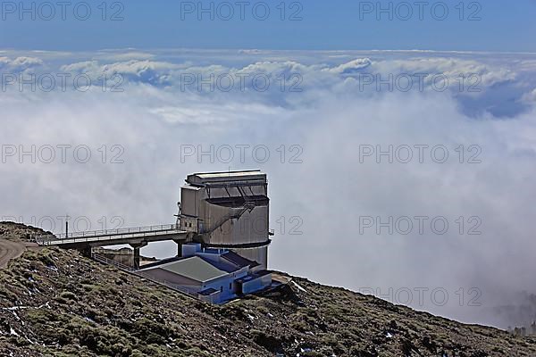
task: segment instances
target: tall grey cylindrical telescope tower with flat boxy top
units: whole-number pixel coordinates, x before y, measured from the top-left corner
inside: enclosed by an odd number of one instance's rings
[[[187,241],[231,250],[268,266],[269,198],[260,170],[195,173],[180,189],[180,229]]]

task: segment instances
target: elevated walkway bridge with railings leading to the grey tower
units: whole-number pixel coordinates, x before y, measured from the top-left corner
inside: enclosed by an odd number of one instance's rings
[[[185,230],[180,230],[177,224],[161,226],[147,226],[136,228],[117,228],[95,230],[89,232],[75,232],[57,235],[44,235],[32,237],[38,245],[128,245],[138,242],[158,242],[172,239],[184,239]]]

